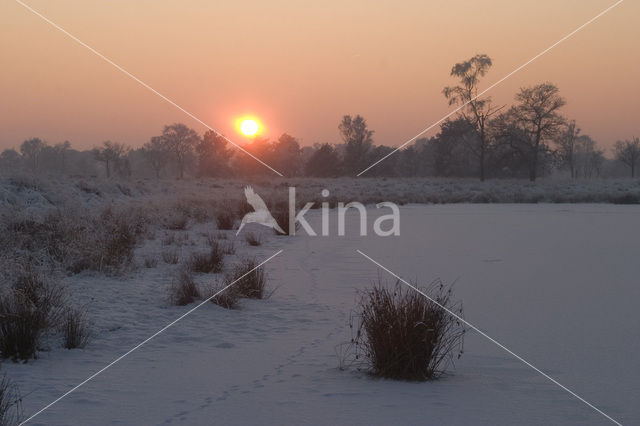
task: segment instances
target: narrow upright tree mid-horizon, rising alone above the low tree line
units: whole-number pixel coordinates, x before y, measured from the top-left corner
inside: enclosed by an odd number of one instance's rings
[[[345,143],[344,171],[357,174],[369,165],[368,154],[373,145],[374,132],[367,128],[367,121],[359,115],[345,115],[338,130]]]

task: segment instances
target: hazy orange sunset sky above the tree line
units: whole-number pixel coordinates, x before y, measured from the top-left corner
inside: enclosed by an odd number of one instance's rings
[[[261,118],[266,136],[303,144],[338,142],[342,115],[361,114],[387,145],[450,111],[441,91],[455,62],[491,56],[486,87],[614,3],[25,1],[234,141],[245,114]],[[0,16],[0,149],[33,136],[140,146],[173,122],[204,130],[13,0]],[[565,114],[603,146],[640,135],[639,17],[626,0],[494,89],[494,100],[549,80]]]

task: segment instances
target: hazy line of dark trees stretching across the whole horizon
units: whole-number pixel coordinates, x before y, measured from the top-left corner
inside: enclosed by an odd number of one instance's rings
[[[449,105],[456,106],[456,114],[441,123],[435,136],[419,138],[397,152],[390,146],[375,145],[374,131],[360,115],[342,118],[339,143],[303,147],[297,138],[284,133],[277,140],[256,137],[243,149],[285,176],[355,176],[388,156],[363,175],[480,180],[515,177],[535,181],[552,171],[564,171],[571,178],[615,175],[620,164],[635,177],[640,164],[637,137],[616,142],[615,162],[611,162],[596,141],[581,133],[575,120],[562,114],[566,100],[554,84],[543,82],[521,88],[511,106],[495,105],[490,97],[483,96],[480,81],[491,66],[491,58],[483,54],[455,64],[450,75],[456,84],[445,87],[442,93]],[[159,135],[137,149],[105,141],[91,151],[79,152],[71,149],[68,141],[49,145],[32,138],[22,143],[19,152],[8,149],[0,154],[2,169],[26,168],[34,174],[86,174],[92,173],[95,164],[102,166],[107,178],[272,173],[224,136],[211,130],[199,135],[182,123],[164,126]]]

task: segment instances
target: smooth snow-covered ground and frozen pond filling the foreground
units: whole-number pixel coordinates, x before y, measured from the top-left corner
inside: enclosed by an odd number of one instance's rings
[[[240,235],[230,261],[283,250],[265,266],[270,299],[243,300],[240,310],[207,303],[31,424],[610,423],[473,332],[453,375],[436,382],[340,370],[336,347],[350,338],[357,290],[379,276],[393,281],[357,249],[410,281],[457,280],[469,322],[614,419],[640,423],[640,207],[407,205],[401,236],[385,238],[360,237],[356,216],[345,237],[269,232],[249,247]],[[319,228],[319,212],[310,217]],[[204,246],[208,227],[190,229],[184,250]],[[160,239],[136,256],[159,256]],[[3,363],[25,396],[24,414],[194,306],[167,306],[172,268],[160,261],[124,277],[68,278],[96,337],[83,350],[54,347],[28,364]],[[222,275],[198,277],[212,279]]]

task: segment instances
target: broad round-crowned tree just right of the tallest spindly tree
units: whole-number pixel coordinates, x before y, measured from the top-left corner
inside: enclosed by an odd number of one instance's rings
[[[549,151],[547,142],[554,140],[565,119],[558,110],[565,105],[558,88],[551,83],[524,87],[516,95],[518,105],[511,108],[507,119],[522,130],[524,154],[529,164],[529,180],[535,181],[541,153]]]

